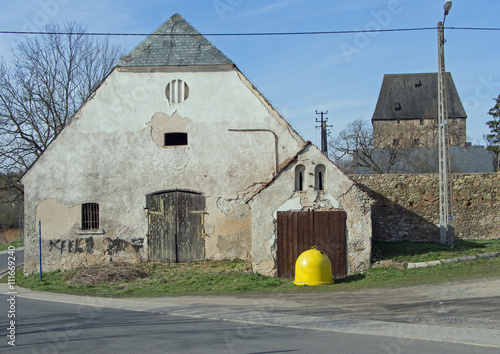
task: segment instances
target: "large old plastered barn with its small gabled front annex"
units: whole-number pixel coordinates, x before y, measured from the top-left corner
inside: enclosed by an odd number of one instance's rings
[[[344,212],[347,272],[370,262],[371,199],[178,14],[120,60],[22,183],[27,274],[40,269],[39,225],[43,271],[238,257],[276,274],[276,214],[291,210]]]

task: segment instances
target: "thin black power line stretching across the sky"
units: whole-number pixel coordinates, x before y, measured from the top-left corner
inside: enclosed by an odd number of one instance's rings
[[[416,28],[388,28],[373,30],[343,30],[343,31],[311,31],[311,32],[252,32],[252,33],[201,33],[202,36],[302,36],[302,35],[329,35],[329,34],[355,34],[355,33],[382,33],[382,32],[410,32],[436,30],[437,27]],[[450,30],[466,31],[500,31],[495,27],[446,27]],[[78,36],[149,36],[151,33],[109,33],[109,32],[38,32],[38,31],[0,31],[0,34],[17,35],[78,35]],[[197,36],[189,33],[159,33],[156,36]]]

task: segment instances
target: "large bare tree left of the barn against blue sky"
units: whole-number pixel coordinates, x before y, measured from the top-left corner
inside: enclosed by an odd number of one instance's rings
[[[46,27],[0,62],[0,176],[22,198],[19,176],[111,72],[122,50],[68,22]],[[64,33],[64,34],[58,34]]]

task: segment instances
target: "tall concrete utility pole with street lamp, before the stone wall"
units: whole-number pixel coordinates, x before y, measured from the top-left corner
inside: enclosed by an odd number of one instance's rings
[[[443,22],[438,23],[438,132],[439,132],[439,241],[455,245],[453,220],[453,190],[451,184],[448,107],[446,96],[446,69],[444,64],[444,22],[451,9],[451,1],[444,7]]]

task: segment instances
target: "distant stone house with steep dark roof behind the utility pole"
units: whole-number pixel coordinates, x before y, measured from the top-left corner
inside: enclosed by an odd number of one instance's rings
[[[384,75],[372,117],[376,146],[438,146],[437,75]],[[446,90],[450,146],[464,146],[467,114],[451,73],[446,73]]]

